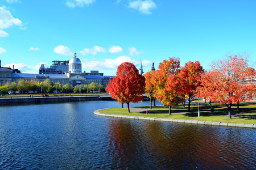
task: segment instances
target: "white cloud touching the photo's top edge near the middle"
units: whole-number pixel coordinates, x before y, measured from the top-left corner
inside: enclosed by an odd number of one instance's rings
[[[151,14],[151,10],[156,8],[156,5],[152,0],[136,0],[129,2],[129,7],[138,10],[142,14]]]

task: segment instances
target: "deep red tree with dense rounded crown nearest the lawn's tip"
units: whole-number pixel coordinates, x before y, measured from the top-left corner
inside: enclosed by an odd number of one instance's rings
[[[133,63],[124,62],[117,67],[117,76],[110,80],[106,91],[119,103],[126,103],[130,113],[130,102],[137,103],[144,94],[145,79]]]

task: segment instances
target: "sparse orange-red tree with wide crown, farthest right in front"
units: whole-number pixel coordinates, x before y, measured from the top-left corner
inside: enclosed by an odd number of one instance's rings
[[[212,69],[201,78],[199,94],[225,104],[231,118],[232,104],[252,97],[249,84],[246,83],[246,78],[251,75],[250,70],[247,60],[237,56],[228,56],[225,60],[213,63]]]

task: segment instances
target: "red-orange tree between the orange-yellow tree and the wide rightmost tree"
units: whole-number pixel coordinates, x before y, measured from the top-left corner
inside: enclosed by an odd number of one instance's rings
[[[185,95],[188,96],[188,112],[190,112],[190,105],[196,98],[196,88],[200,86],[201,74],[204,73],[203,67],[199,61],[187,62],[179,72],[180,82],[183,82]]]

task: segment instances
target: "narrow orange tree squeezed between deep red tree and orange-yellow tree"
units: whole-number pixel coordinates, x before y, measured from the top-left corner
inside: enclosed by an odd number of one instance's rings
[[[156,96],[156,87],[154,83],[155,79],[155,70],[151,70],[143,75],[145,78],[145,92],[148,97],[150,97],[150,109],[152,109],[152,100],[154,100],[155,106],[155,96]]]

